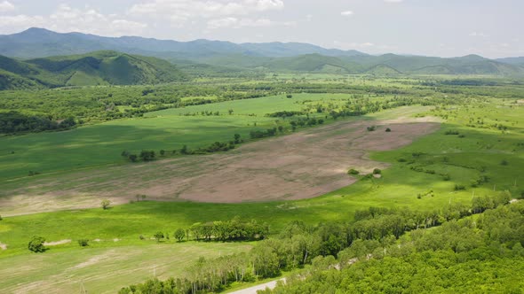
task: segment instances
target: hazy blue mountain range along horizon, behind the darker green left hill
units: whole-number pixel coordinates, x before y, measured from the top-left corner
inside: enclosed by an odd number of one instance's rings
[[[43,58],[86,54],[97,50],[116,50],[127,54],[163,58],[174,64],[199,66],[201,69],[205,68],[202,65],[208,66],[201,74],[255,70],[322,74],[524,75],[521,58],[493,60],[476,55],[458,58],[395,54],[373,56],[356,50],[324,49],[307,43],[237,44],[209,40],[177,42],[133,36],[108,38],[80,33],[59,34],[42,28],[30,28],[19,34],[0,35],[0,55],[11,58]],[[12,76],[4,77],[4,80],[8,81],[14,79]],[[80,79],[77,79],[77,82],[78,80]],[[138,80],[149,81],[143,78]],[[124,81],[129,82],[128,79]],[[96,81],[92,82],[96,84]]]

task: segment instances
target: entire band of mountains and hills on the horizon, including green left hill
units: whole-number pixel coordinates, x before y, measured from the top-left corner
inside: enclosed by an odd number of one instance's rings
[[[0,55],[4,56],[0,59],[0,89],[181,81],[186,77],[180,66],[205,73],[524,75],[524,58],[372,56],[307,43],[178,42],[60,34],[44,28],[0,35]]]

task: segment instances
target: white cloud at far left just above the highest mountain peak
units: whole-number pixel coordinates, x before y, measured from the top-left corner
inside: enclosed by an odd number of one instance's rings
[[[138,35],[147,24],[104,15],[89,7],[84,10],[60,4],[49,16],[0,16],[2,31],[20,31],[28,27],[45,27],[57,32],[83,32],[94,35]]]

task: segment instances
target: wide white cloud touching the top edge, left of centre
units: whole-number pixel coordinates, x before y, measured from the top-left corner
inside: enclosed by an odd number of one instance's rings
[[[182,27],[195,18],[215,19],[213,24],[230,24],[235,22],[232,18],[237,16],[283,8],[282,0],[149,0],[132,5],[128,13],[136,17],[163,17],[171,20],[174,26]]]

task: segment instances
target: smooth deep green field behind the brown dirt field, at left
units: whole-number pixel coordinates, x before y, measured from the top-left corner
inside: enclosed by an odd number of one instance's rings
[[[0,136],[0,181],[41,174],[65,172],[92,166],[123,164],[122,151],[172,151],[183,145],[199,148],[228,142],[235,133],[249,138],[257,128],[274,128],[275,118],[264,115],[282,110],[299,111],[302,101],[336,101],[349,98],[337,94],[298,94],[236,100],[149,112],[145,118],[113,120],[63,132]],[[232,115],[228,110],[233,109]],[[181,116],[187,112],[213,111],[219,116]],[[248,114],[255,113],[256,116]]]

